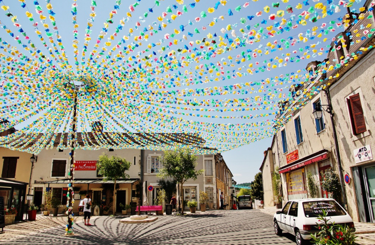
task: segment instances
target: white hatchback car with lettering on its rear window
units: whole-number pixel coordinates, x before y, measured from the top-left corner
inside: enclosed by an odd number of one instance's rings
[[[305,244],[305,240],[311,239],[311,234],[319,232],[317,216],[323,210],[328,212],[330,222],[346,224],[355,232],[353,220],[334,199],[311,198],[289,200],[282,211],[276,212],[273,216],[276,235],[280,236],[286,231],[295,235],[297,245]]]

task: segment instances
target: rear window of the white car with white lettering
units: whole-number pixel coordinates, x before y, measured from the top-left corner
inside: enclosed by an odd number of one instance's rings
[[[306,217],[318,217],[323,213],[323,210],[328,212],[327,216],[346,215],[345,211],[335,201],[313,201],[304,202],[304,212]]]

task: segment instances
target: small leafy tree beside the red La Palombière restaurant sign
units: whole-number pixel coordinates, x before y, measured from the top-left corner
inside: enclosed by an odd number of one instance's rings
[[[129,175],[125,171],[129,170],[130,162],[126,161],[125,158],[111,156],[108,157],[106,154],[99,156],[97,162],[98,173],[104,176],[104,181],[114,181],[114,198],[116,195],[116,181],[120,178],[129,178]],[[116,215],[116,205],[113,202],[113,215]]]

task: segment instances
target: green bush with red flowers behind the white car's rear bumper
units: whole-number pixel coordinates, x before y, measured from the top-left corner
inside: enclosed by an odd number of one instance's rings
[[[314,244],[323,245],[351,245],[354,244],[356,236],[350,231],[347,225],[335,224],[329,221],[326,217],[327,212],[318,216],[317,228],[320,230],[318,233],[311,234],[311,240]]]

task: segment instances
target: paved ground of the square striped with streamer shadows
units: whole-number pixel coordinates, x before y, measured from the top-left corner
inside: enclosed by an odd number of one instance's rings
[[[119,223],[123,217],[94,216],[92,227],[77,217],[77,235],[64,236],[66,217],[38,216],[7,225],[0,244],[294,244],[292,235],[276,236],[272,216],[259,210],[163,215],[144,224]]]

